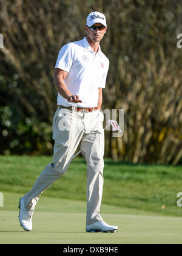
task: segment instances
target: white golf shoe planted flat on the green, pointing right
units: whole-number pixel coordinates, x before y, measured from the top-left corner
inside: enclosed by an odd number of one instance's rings
[[[106,233],[113,233],[117,232],[118,227],[117,226],[110,226],[106,222],[97,221],[91,225],[86,226],[86,232],[106,232]]]

